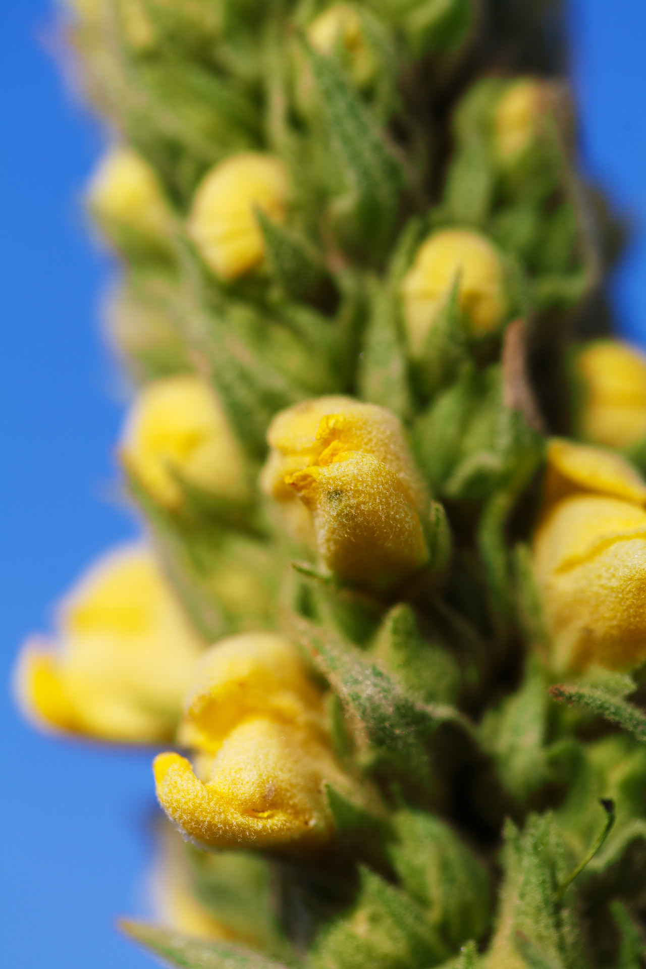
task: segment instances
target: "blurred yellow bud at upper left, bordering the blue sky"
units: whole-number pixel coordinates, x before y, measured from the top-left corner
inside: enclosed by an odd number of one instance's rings
[[[108,232],[132,231],[157,241],[170,234],[171,216],[157,175],[132,148],[112,148],[90,182],[87,201]]]

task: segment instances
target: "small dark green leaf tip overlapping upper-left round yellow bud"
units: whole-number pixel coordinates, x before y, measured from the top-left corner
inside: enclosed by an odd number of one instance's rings
[[[270,275],[288,297],[304,299],[321,286],[325,275],[323,264],[310,247],[289,229],[256,210],[264,237]]]

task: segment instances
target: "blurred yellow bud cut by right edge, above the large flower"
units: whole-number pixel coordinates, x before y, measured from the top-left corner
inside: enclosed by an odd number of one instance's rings
[[[646,438],[646,357],[614,340],[597,340],[578,354],[575,366],[585,390],[582,436],[609,448]]]

